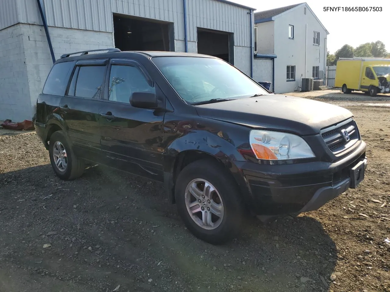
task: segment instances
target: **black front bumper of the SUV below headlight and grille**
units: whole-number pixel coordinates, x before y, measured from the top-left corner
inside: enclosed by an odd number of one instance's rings
[[[362,178],[367,164],[366,144],[337,162],[264,165],[236,162],[257,215],[301,213],[320,208],[359,182],[351,170],[360,165]],[[356,172],[357,170],[355,170]]]

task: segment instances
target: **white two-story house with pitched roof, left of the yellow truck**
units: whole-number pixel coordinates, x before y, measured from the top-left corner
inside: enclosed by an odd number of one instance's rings
[[[307,3],[257,12],[254,23],[256,81],[286,93],[300,91],[302,78],[324,77],[329,32]]]

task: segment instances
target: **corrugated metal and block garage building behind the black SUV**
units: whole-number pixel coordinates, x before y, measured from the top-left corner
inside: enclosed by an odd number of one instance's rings
[[[225,0],[2,0],[0,120],[32,118],[53,63],[43,19],[55,59],[114,46],[188,51],[252,75],[252,16],[252,8]]]

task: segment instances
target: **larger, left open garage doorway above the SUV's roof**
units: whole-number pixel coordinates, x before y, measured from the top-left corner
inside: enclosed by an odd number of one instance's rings
[[[115,47],[121,51],[174,51],[173,23],[113,14]]]

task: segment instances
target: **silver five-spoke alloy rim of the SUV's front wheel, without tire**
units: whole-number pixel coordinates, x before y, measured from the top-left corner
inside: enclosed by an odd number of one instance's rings
[[[190,181],[185,193],[187,211],[200,227],[216,229],[223,220],[221,196],[210,182],[197,178]]]

